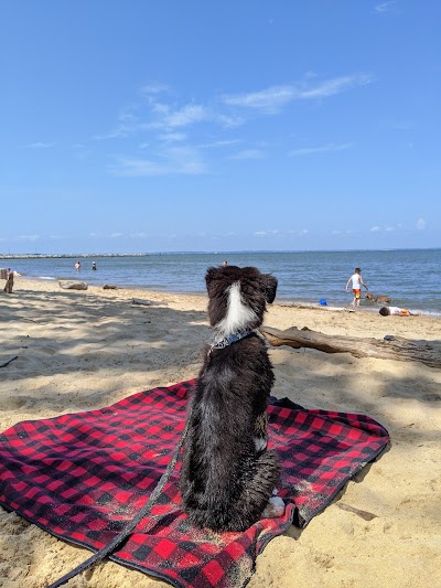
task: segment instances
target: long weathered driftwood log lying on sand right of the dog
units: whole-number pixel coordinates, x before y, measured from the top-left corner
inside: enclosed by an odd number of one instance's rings
[[[387,335],[385,339],[326,335],[311,331],[306,327],[303,329],[291,327],[286,331],[261,327],[260,333],[273,346],[310,348],[325,353],[351,353],[355,357],[413,361],[431,367],[441,367],[441,344],[434,341],[409,341],[392,335]]]

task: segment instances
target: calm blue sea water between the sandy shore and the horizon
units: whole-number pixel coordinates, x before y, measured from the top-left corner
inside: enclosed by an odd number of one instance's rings
[[[123,257],[83,257],[75,271],[75,258],[0,259],[23,277],[82,279],[93,285],[114,284],[172,292],[205,292],[207,267],[220,265],[256,266],[279,280],[278,301],[329,306],[352,301],[345,286],[355,267],[362,268],[369,291],[387,295],[398,307],[441,316],[441,249],[399,249],[378,252],[297,252],[228,254],[151,254]],[[92,270],[96,261],[97,271]],[[377,304],[363,301],[365,309]]]

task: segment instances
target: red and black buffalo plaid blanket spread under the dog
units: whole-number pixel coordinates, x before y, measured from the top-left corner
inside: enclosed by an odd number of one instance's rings
[[[184,428],[194,385],[19,423],[0,435],[0,504],[57,537],[101,548],[157,485]],[[245,533],[194,528],[181,511],[178,463],[151,514],[111,559],[180,588],[245,586],[271,538],[292,522],[304,526],[388,443],[387,431],[369,417],[305,410],[287,398],[271,398],[269,438],[282,461],[282,517],[258,521]]]

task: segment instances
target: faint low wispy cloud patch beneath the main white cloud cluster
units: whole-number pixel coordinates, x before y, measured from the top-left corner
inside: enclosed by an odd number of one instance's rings
[[[160,159],[121,158],[115,165],[109,167],[115,175],[165,175],[204,173],[205,165],[197,151],[187,147],[175,147],[160,153]]]

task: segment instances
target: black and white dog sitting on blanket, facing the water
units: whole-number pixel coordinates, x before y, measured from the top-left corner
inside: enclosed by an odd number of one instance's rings
[[[277,279],[257,268],[212,267],[205,276],[214,341],[189,411],[180,489],[198,527],[244,531],[280,516],[280,466],[267,447],[267,404],[275,381],[262,339]]]

